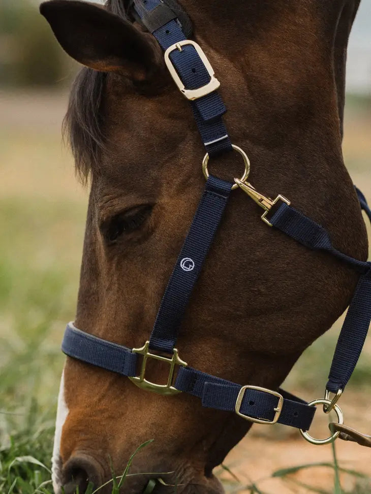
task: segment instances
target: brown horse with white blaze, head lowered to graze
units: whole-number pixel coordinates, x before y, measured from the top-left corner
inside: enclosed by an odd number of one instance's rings
[[[231,141],[251,160],[249,180],[288,197],[330,232],[337,249],[366,260],[365,225],[342,156],[346,50],[359,0],[164,5],[175,5],[179,18],[187,13],[192,39],[221,81],[223,118]],[[133,15],[133,2],[50,0],[40,9],[61,47],[84,65],[65,120],[77,174],[90,187],[74,324],[91,337],[138,349],[202,196],[203,145],[159,43]],[[242,160],[221,153],[208,168],[233,182]],[[177,348],[204,373],[277,390],[349,305],[357,276],[326,252],[268,228],[259,210],[241,188],[231,192]],[[191,261],[185,270],[193,269]],[[166,382],[168,374],[166,362],[150,359],[150,382]],[[187,393],[164,396],[134,384],[67,357],[53,450],[55,492],[85,492],[88,482],[107,484],[101,491],[110,492],[112,475],[150,439],[131,467],[138,475],[127,477],[120,491],[138,494],[156,472],[168,472],[166,483],[182,494],[224,492],[213,469],[252,422],[202,407]],[[169,491],[162,484],[154,489]]]

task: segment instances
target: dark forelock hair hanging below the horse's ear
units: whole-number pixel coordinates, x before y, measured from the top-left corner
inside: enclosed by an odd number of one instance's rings
[[[130,0],[106,0],[107,10],[127,19]],[[106,75],[84,67],[72,85],[64,119],[64,135],[75,158],[76,173],[85,182],[92,170],[100,167],[100,153],[105,145],[102,96]]]

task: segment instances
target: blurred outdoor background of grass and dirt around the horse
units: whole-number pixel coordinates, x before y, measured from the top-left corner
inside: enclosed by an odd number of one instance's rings
[[[9,494],[51,492],[59,345],[75,313],[87,203],[60,133],[76,65],[38,5],[0,1],[0,492]],[[371,0],[362,0],[351,35],[347,92],[345,162],[371,201]],[[340,326],[301,357],[290,391],[322,397]],[[342,399],[347,424],[368,434],[370,357],[368,341]],[[323,423],[316,429],[326,434]],[[371,492],[370,450],[337,441],[336,451],[341,491]],[[279,425],[255,427],[218,474],[229,492],[326,494],[333,461],[331,446]]]

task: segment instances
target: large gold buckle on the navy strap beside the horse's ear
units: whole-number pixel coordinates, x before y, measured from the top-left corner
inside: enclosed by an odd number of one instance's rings
[[[181,79],[178,76],[178,73],[176,72],[173,62],[170,60],[170,53],[174,50],[181,51],[181,47],[184,45],[192,45],[196,49],[199,57],[201,58],[210,76],[210,81],[204,86],[199,87],[197,89],[185,89],[184,84],[181,82]],[[182,94],[184,94],[184,96],[188,100],[198,100],[198,98],[201,98],[202,96],[206,96],[206,94],[215,91],[215,89],[218,89],[218,87],[220,86],[220,82],[215,77],[214,71],[205,53],[202,51],[200,45],[198,45],[194,41],[191,40],[178,41],[178,43],[174,43],[173,45],[169,46],[169,48],[165,51],[165,63],[167,68],[169,69],[171,77],[174,79],[175,84],[178,86],[179,91]]]

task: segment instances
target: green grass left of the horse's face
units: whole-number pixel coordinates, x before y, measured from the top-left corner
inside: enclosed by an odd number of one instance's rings
[[[52,492],[55,397],[63,365],[59,342],[73,314],[78,280],[65,249],[74,234],[69,224],[82,221],[83,214],[71,204],[18,198],[0,203],[1,493],[28,494],[40,485]],[[63,240],[55,235],[61,222]]]

